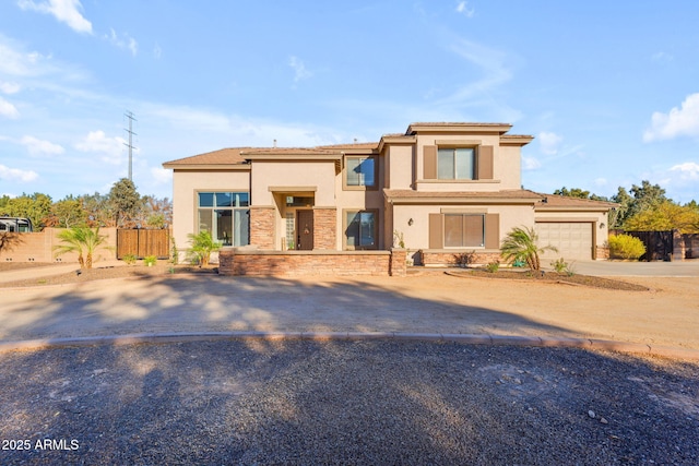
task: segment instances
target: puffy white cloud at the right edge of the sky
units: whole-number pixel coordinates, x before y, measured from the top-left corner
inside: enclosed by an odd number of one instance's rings
[[[651,128],[643,133],[643,142],[678,136],[699,138],[699,93],[688,95],[680,108],[674,107],[667,113],[655,111]]]

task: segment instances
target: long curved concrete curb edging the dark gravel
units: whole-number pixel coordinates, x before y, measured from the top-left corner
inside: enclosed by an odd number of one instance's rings
[[[394,333],[394,332],[201,332],[201,333],[139,333],[66,338],[27,339],[0,343],[0,353],[29,351],[71,346],[126,346],[152,343],[213,342],[225,339],[295,340],[378,340],[451,342],[463,345],[529,346],[543,348],[579,348],[605,350],[673,359],[699,360],[699,350],[652,346],[639,343],[588,338],[558,338],[488,334]]]

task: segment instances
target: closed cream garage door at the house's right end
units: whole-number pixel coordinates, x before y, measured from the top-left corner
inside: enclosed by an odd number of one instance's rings
[[[537,222],[538,246],[558,248],[558,252],[546,251],[543,259],[590,260],[592,259],[592,223]]]

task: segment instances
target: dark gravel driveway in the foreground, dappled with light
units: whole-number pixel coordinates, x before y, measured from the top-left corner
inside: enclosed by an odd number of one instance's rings
[[[0,431],[3,465],[697,465],[699,366],[382,340],[15,351]]]

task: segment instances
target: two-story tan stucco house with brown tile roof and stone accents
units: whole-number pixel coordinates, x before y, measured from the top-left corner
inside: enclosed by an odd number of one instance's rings
[[[416,264],[440,265],[464,252],[489,262],[511,228],[534,226],[556,256],[603,258],[614,204],[521,189],[521,148],[533,136],[510,128],[412,123],[374,143],[236,147],[167,162],[174,238],[182,248],[188,234],[208,229],[225,246],[268,254],[400,242]]]

